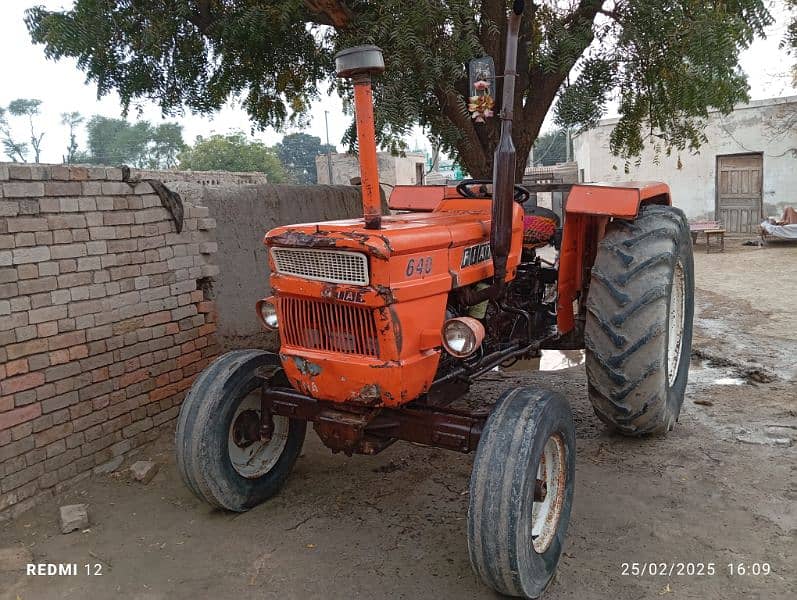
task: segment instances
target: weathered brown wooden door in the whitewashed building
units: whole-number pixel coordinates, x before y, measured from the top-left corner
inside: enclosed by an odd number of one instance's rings
[[[761,223],[763,156],[717,157],[716,215],[728,233],[755,233]]]

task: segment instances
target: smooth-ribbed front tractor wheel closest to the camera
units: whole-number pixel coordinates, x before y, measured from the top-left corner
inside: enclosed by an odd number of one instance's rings
[[[495,591],[537,598],[570,521],[576,433],[567,401],[542,388],[506,392],[487,419],[470,478],[468,551]]]

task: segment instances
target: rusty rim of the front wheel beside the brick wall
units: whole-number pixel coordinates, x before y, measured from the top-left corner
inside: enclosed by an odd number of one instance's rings
[[[252,415],[260,420],[260,396],[251,393],[246,396],[235,410],[230,430],[227,435],[227,452],[233,469],[247,479],[257,479],[268,473],[277,464],[285,445],[288,443],[288,418],[275,415],[274,433],[268,442],[251,435]],[[248,435],[246,435],[248,433]],[[248,438],[248,439],[242,439]]]

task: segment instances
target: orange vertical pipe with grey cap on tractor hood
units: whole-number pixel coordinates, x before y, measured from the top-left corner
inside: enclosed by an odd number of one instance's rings
[[[338,77],[351,79],[354,84],[354,116],[357,122],[363,219],[366,229],[382,227],[371,75],[377,75],[384,70],[382,50],[377,46],[356,46],[341,50],[335,55],[335,71]]]

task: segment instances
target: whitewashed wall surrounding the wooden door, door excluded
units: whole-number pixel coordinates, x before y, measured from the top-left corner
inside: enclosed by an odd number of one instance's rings
[[[584,181],[655,180],[669,184],[673,204],[689,218],[714,218],[717,156],[761,152],[764,155],[763,200],[775,206],[797,205],[797,96],[757,100],[737,106],[729,115],[711,113],[705,130],[708,141],[697,154],[688,150],[656,156],[652,146],[637,166],[631,161],[625,173],[623,159],[609,151],[609,135],[617,119],[601,121],[574,138],[574,150]],[[792,127],[784,127],[791,115]],[[772,215],[774,216],[774,215]]]

